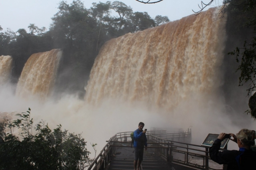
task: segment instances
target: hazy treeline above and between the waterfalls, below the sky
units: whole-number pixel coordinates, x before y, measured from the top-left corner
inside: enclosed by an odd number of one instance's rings
[[[83,93],[94,59],[106,41],[169,22],[167,16],[151,18],[147,12],[133,12],[119,1],[93,3],[89,9],[80,0],[71,4],[61,1],[58,9],[49,31],[30,24],[29,33],[24,28],[0,32],[0,55],[13,57],[13,83],[17,83],[30,55],[61,48],[57,91]]]

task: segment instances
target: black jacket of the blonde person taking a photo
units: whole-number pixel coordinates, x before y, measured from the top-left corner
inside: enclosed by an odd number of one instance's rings
[[[217,139],[210,147],[210,157],[214,162],[227,164],[227,170],[255,170],[256,152],[240,148],[239,151],[219,152],[221,141]]]

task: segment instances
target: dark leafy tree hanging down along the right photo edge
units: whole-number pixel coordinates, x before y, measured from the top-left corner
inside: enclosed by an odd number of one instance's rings
[[[240,71],[239,86],[247,83],[247,95],[249,96],[252,92],[254,94],[249,99],[249,108],[245,113],[250,114],[252,118],[256,119],[256,2],[253,0],[239,1],[242,6],[243,16],[246,20],[246,27],[252,29],[252,37],[249,41],[244,41],[243,47],[236,47],[231,55],[236,55],[236,61],[240,65],[237,71]],[[236,8],[237,9],[237,8]],[[238,11],[239,12],[239,11]]]

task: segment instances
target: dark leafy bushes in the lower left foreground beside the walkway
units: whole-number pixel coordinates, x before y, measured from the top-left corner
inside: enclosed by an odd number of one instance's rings
[[[76,170],[92,162],[81,134],[62,131],[61,125],[52,131],[44,121],[33,126],[30,108],[17,115],[20,119],[0,123],[0,169]]]

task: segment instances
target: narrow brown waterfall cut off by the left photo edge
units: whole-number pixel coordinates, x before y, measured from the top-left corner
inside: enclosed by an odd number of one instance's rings
[[[0,85],[10,81],[12,71],[12,57],[10,55],[0,56]]]

